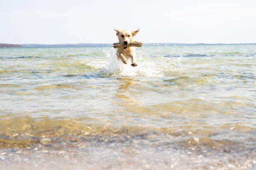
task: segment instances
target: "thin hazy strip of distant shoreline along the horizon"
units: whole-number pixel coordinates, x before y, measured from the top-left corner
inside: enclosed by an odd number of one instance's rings
[[[143,46],[198,46],[198,45],[256,45],[256,43],[143,43]],[[47,48],[47,47],[104,47],[111,43],[78,43],[78,44],[6,44],[0,43],[0,48]]]

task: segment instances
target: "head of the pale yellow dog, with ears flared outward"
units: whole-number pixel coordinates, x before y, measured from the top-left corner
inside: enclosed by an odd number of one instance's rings
[[[122,30],[122,31],[119,31],[118,29],[117,30],[114,29],[114,30],[116,31],[116,35],[118,36],[119,43],[123,43],[124,45],[129,44],[132,41],[132,38],[140,31],[140,29],[132,32],[128,30]]]

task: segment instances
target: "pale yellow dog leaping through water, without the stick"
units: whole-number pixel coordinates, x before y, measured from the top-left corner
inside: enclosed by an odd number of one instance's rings
[[[119,31],[118,29],[114,29],[116,31],[116,35],[118,36],[119,43],[123,43],[124,45],[128,45],[133,37],[140,31],[128,31],[122,30]],[[135,58],[135,47],[123,47],[118,48],[116,51],[116,55],[118,60],[122,60],[123,63],[127,64],[127,59],[131,58],[131,66],[137,66],[136,58]]]

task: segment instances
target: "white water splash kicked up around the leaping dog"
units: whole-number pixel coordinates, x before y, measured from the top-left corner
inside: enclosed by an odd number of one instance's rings
[[[108,62],[100,71],[103,77],[165,77],[169,72],[184,72],[182,66],[182,56],[179,58],[148,57],[147,55],[137,52],[138,66],[131,66],[131,60],[128,64],[123,64],[116,57],[115,49],[104,51]]]

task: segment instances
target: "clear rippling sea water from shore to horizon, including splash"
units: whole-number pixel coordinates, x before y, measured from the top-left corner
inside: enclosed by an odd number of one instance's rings
[[[0,170],[256,169],[256,45],[0,49]]]

